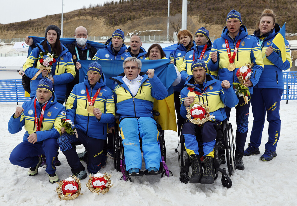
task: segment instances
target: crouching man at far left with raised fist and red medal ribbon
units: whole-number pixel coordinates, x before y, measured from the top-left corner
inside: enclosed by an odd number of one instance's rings
[[[65,119],[65,107],[57,102],[53,91],[53,82],[48,78],[39,81],[36,96],[17,107],[8,122],[8,131],[15,134],[25,126],[23,142],[10,153],[9,161],[13,165],[30,168],[29,176],[38,174],[41,165],[40,154],[45,154],[50,183],[59,181],[54,165],[59,149],[57,139],[61,135],[61,119]]]

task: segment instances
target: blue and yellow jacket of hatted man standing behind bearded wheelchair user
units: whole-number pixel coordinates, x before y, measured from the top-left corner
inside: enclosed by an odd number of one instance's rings
[[[212,47],[212,42],[209,40],[207,43],[206,51],[202,57],[202,60],[204,60],[205,65],[207,65],[206,63],[208,60],[208,56],[210,54],[211,47]],[[201,55],[201,52],[203,51],[203,48],[204,48],[204,45],[195,45],[193,50],[188,51],[186,53],[185,58],[182,62],[181,68],[180,68],[181,69],[180,75],[184,82],[186,81],[188,76],[192,75],[191,66],[193,63],[193,56],[195,59],[199,58]],[[217,76],[217,71],[210,72],[207,67],[206,67],[206,70],[207,70],[206,72],[208,74]]]

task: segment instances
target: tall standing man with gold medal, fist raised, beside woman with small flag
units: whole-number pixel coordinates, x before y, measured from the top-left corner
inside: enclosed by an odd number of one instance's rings
[[[253,86],[258,83],[264,63],[261,56],[261,49],[255,37],[248,35],[247,29],[242,25],[241,15],[236,10],[231,10],[226,18],[226,26],[221,37],[212,44],[207,68],[209,71],[218,70],[218,80],[228,80],[230,84],[239,83],[236,72],[245,64],[253,63],[253,74],[246,82],[250,94],[253,93]],[[238,96],[237,96],[238,97]],[[250,99],[250,98],[249,98]],[[243,148],[246,142],[248,131],[248,115],[250,102],[245,103],[239,98],[236,109],[236,136],[235,136],[235,167],[244,169],[242,157]],[[230,107],[225,107],[227,119],[230,117]]]

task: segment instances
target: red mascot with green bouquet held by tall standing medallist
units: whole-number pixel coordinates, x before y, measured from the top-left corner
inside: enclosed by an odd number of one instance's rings
[[[236,76],[240,83],[233,83],[233,88],[236,91],[236,95],[243,97],[244,102],[248,103],[250,95],[249,88],[246,87],[246,82],[250,79],[252,72],[252,67],[254,66],[253,63],[246,64],[245,66],[240,67],[237,72]]]

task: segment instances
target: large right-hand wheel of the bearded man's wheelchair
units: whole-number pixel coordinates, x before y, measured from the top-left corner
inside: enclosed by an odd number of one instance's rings
[[[225,150],[229,175],[235,171],[235,142],[231,123],[228,123],[225,130]]]

